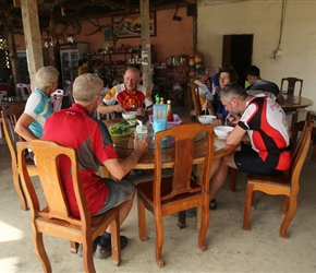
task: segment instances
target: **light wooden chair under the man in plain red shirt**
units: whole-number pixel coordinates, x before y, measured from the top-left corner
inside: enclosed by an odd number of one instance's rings
[[[99,216],[90,216],[80,179],[75,150],[42,140],[17,142],[16,146],[19,173],[31,209],[33,245],[42,270],[45,272],[52,271],[42,241],[42,234],[48,234],[71,240],[72,246],[74,241],[82,244],[84,270],[85,272],[96,272],[93,260],[93,241],[109,225],[112,225],[112,259],[119,265],[121,261],[119,210],[114,207]],[[39,203],[40,200],[28,176],[24,158],[24,151],[26,149],[31,149],[36,155],[38,176],[45,194],[42,203]],[[70,215],[64,188],[58,170],[59,157],[61,155],[69,157],[71,161],[71,176],[81,218],[74,218]]]

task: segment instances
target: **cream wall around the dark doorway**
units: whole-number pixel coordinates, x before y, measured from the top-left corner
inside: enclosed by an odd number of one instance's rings
[[[287,3],[281,58],[278,47],[281,0],[199,0],[197,7],[197,49],[204,66],[220,67],[222,36],[253,34],[253,61],[262,76],[281,84],[281,78],[304,80],[302,96],[316,102],[316,1],[289,0]],[[316,110],[316,104],[308,109]]]

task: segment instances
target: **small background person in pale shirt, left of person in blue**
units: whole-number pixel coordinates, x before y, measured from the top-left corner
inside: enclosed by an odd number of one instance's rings
[[[198,86],[198,95],[200,107],[204,111],[208,111],[209,115],[215,115],[212,109],[212,95],[205,85],[205,81],[207,80],[207,70],[206,68],[198,68],[195,72],[196,80],[194,83]]]

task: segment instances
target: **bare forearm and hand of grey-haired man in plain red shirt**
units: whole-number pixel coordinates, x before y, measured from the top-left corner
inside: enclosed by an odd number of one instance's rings
[[[119,162],[118,158],[108,159],[104,162],[104,165],[113,177],[122,179],[137,164],[141,156],[148,150],[148,135],[143,140],[137,140],[137,133],[135,133],[134,151],[122,162]]]

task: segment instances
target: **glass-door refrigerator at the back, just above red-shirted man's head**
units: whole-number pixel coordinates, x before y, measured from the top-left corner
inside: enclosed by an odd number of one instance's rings
[[[66,81],[73,82],[77,76],[78,60],[88,52],[88,44],[65,44],[60,46],[60,64],[62,84]]]

